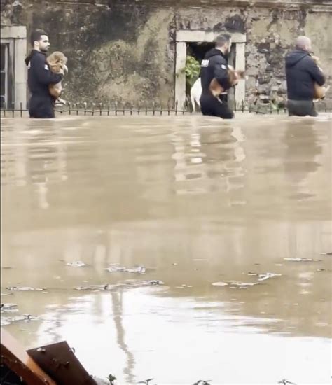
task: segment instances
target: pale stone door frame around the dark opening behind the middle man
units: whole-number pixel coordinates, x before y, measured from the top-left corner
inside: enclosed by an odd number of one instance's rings
[[[212,43],[221,32],[189,31],[186,29],[178,30],[176,33],[176,56],[175,56],[175,102],[179,107],[186,102],[186,66],[187,43]],[[246,34],[231,34],[232,43],[235,44],[235,68],[245,69],[245,45],[247,42]],[[235,87],[235,102],[241,105],[245,99],[246,80],[240,80]]]

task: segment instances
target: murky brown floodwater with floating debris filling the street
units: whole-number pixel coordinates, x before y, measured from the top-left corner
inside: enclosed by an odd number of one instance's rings
[[[331,128],[5,118],[1,300],[18,311],[4,327],[27,348],[66,339],[120,383],[329,384]],[[7,289],[24,286],[47,290]]]

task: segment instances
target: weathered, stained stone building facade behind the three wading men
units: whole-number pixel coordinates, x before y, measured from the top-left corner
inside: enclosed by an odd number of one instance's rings
[[[1,0],[1,4],[1,62],[6,64],[1,66],[1,100],[7,103],[26,101],[22,60],[30,49],[27,36],[36,28],[47,31],[52,50],[69,57],[64,97],[72,102],[181,104],[188,43],[212,41],[221,31],[233,35],[235,66],[247,70],[247,80],[235,92],[237,102],[248,102],[257,92],[261,99],[284,97],[284,55],[300,34],[312,38],[331,81],[331,0]],[[329,92],[326,102],[331,101]]]

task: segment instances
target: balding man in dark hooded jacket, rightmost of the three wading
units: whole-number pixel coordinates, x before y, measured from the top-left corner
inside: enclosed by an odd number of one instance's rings
[[[314,83],[324,85],[324,73],[310,56],[311,41],[306,36],[296,39],[296,49],[286,55],[287,107],[289,116],[317,116],[314,108]]]

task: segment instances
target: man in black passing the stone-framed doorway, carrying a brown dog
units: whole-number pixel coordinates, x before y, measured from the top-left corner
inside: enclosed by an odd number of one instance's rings
[[[224,119],[232,119],[234,113],[228,108],[227,99],[214,97],[209,90],[213,78],[223,87],[230,88],[228,79],[228,55],[232,45],[230,34],[222,34],[216,38],[216,48],[212,48],[202,60],[200,78],[202,82],[202,96],[200,97],[200,108],[203,115],[219,116]]]

